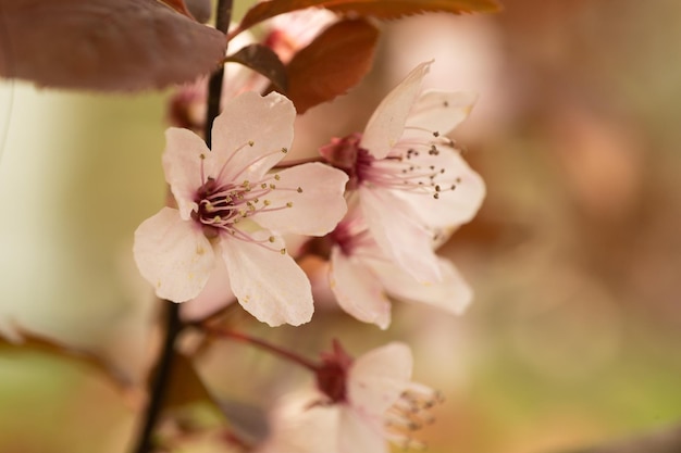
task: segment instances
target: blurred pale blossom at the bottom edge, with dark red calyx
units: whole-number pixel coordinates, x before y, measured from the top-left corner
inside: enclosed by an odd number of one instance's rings
[[[287,436],[265,452],[293,453],[277,449],[292,438],[302,445],[298,453],[387,453],[386,440],[404,448],[422,445],[412,435],[432,421],[429,410],[439,395],[411,381],[413,361],[406,344],[389,343],[352,360],[334,342],[322,360],[317,375],[322,394],[298,401],[285,413]]]

